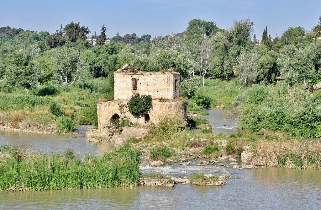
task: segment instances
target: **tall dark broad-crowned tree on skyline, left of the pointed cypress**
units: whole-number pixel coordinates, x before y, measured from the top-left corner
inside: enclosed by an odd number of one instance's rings
[[[71,22],[64,27],[65,38],[67,41],[75,42],[77,40],[86,40],[90,33],[88,26],[80,26],[80,23]]]

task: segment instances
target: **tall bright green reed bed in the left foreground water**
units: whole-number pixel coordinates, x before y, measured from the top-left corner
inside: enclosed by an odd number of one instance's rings
[[[137,186],[139,151],[124,144],[102,157],[76,156],[72,150],[51,155],[0,147],[0,190],[39,191]]]

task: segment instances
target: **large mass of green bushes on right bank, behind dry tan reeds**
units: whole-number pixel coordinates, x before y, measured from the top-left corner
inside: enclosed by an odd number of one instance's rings
[[[297,137],[321,133],[321,102],[299,87],[255,85],[242,97],[235,103],[241,129],[281,131]]]

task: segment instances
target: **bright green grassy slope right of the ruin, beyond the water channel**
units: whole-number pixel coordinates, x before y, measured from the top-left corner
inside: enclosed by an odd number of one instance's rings
[[[210,101],[210,107],[223,104],[223,109],[229,109],[236,96],[242,94],[245,88],[239,90],[239,81],[232,78],[230,81],[222,79],[205,79],[204,87],[200,87],[195,92],[195,96],[206,98]]]

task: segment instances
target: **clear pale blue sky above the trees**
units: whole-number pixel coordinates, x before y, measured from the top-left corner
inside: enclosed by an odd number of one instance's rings
[[[50,34],[70,22],[80,22],[89,30],[113,37],[183,32],[192,19],[203,19],[229,29],[235,20],[249,18],[257,39],[267,26],[272,38],[291,26],[311,30],[321,16],[321,0],[2,0],[0,27],[48,31]],[[252,37],[253,37],[252,34]]]

